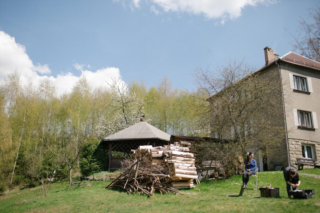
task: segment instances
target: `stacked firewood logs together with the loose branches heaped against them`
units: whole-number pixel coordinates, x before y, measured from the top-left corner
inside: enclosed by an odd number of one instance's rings
[[[140,146],[132,150],[134,159],[122,162],[121,175],[105,188],[124,189],[129,194],[154,192],[182,194],[179,188],[193,188],[197,183],[195,157],[189,148],[178,145],[164,147]]]

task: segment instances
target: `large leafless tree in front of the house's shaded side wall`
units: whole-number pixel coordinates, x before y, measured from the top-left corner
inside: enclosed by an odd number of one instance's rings
[[[196,72],[198,109],[204,125],[211,126],[212,137],[236,141],[240,156],[252,148],[263,155],[273,153],[285,133],[278,73],[255,70],[244,61],[230,61],[215,72]]]

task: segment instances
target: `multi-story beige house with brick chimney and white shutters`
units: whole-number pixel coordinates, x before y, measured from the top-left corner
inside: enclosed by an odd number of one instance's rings
[[[297,167],[299,158],[312,159],[320,165],[320,63],[294,52],[279,57],[269,47],[264,48],[264,53],[266,64],[257,72],[277,73],[286,136],[279,139],[278,150],[267,161],[264,159],[267,166],[262,165],[262,158],[257,159],[258,167],[260,171],[289,164]],[[212,133],[212,137],[216,136]]]

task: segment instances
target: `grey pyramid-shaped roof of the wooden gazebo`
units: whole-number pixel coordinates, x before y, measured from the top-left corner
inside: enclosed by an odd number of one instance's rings
[[[109,135],[102,141],[123,141],[123,140],[142,140],[142,139],[160,139],[170,141],[170,134],[157,129],[147,122],[140,121],[117,133]]]

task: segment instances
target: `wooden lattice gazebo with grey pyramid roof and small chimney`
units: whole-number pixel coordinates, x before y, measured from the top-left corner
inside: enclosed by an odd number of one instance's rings
[[[137,149],[142,145],[168,145],[170,136],[148,124],[143,118],[139,123],[109,135],[100,142],[109,153],[108,170],[119,169],[121,160],[129,157],[131,149]]]

